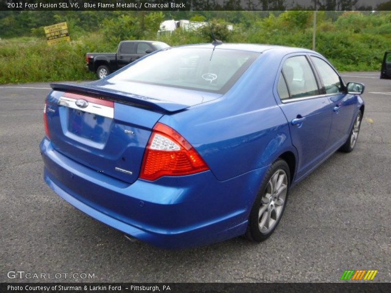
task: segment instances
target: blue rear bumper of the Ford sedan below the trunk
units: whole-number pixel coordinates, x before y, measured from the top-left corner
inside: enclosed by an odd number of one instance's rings
[[[137,180],[129,185],[81,165],[46,138],[44,180],[77,209],[142,241],[167,249],[206,245],[243,234],[266,168],[219,182],[211,171]]]

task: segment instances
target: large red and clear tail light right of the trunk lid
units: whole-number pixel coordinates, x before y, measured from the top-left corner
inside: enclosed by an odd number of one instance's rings
[[[173,128],[157,123],[144,153],[140,178],[181,176],[209,170],[195,148]]]

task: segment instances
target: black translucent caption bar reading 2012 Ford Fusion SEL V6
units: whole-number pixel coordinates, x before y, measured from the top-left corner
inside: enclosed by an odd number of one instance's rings
[[[0,10],[391,10],[391,0],[0,0]]]

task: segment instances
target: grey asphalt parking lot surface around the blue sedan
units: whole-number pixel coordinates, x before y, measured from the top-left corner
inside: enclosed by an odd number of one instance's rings
[[[354,151],[335,153],[291,190],[267,241],[184,251],[132,243],[48,188],[39,143],[50,87],[0,86],[0,282],[339,282],[348,269],[378,270],[374,280],[390,282],[391,80],[343,77],[366,84]]]

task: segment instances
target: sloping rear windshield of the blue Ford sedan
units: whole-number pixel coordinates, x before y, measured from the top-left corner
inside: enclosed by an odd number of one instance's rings
[[[216,48],[169,48],[109,79],[225,93],[260,53]]]

